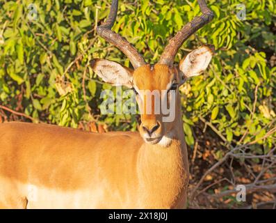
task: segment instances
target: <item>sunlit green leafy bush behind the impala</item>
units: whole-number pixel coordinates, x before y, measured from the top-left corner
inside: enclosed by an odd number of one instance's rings
[[[216,46],[208,71],[180,89],[184,131],[193,146],[194,126],[203,121],[225,144],[257,140],[252,149],[263,153],[276,137],[265,137],[276,118],[276,2],[246,1],[246,20],[236,16],[238,3],[208,1],[214,20],[177,54],[179,61],[199,45]],[[95,33],[109,8],[110,1],[99,0],[1,1],[0,104],[35,121],[73,128],[96,121],[111,130],[136,130],[134,116],[99,116],[99,95],[111,86],[95,76],[89,61],[105,58],[130,66],[118,49]],[[154,63],[168,39],[199,13],[195,0],[120,1],[113,29]]]

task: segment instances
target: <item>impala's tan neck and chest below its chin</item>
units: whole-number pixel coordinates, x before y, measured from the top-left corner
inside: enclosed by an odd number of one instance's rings
[[[176,111],[173,129],[168,137],[172,137],[169,146],[160,143],[145,143],[141,146],[137,164],[138,178],[141,188],[147,188],[149,194],[156,194],[156,197],[168,201],[159,207],[172,208],[180,203],[183,208],[186,204],[189,171],[180,108]],[[155,199],[147,202],[154,203]]]

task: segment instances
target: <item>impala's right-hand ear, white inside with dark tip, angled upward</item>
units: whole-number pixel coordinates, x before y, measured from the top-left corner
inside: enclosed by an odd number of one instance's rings
[[[213,55],[213,49],[204,45],[190,52],[179,64],[186,77],[200,75],[209,65]]]

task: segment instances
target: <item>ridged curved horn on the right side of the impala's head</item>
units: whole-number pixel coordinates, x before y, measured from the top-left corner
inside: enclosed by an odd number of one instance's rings
[[[184,41],[193,35],[193,33],[198,29],[202,28],[202,26],[213,20],[213,12],[206,6],[206,2],[204,0],[197,0],[197,2],[200,5],[202,15],[200,17],[194,17],[191,22],[188,22],[188,24],[186,24],[173,38],[170,39],[161,55],[159,63],[172,66],[177,51]]]

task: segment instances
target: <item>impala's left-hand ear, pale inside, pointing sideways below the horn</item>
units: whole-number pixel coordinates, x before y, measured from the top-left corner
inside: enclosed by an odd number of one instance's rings
[[[104,59],[94,59],[90,62],[92,70],[104,82],[113,86],[124,85],[132,88],[133,70],[122,66],[120,63]]]

